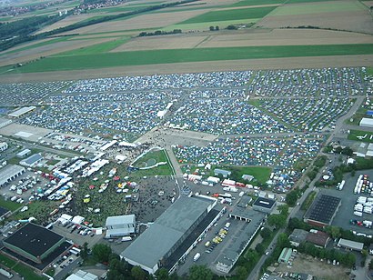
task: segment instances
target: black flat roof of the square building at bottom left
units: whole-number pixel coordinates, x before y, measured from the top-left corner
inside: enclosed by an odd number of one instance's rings
[[[64,239],[64,236],[43,226],[28,223],[5,238],[4,243],[14,245],[30,255],[38,256],[43,255],[61,239]]]

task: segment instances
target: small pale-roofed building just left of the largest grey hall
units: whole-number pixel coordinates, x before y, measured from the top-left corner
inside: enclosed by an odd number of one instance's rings
[[[135,232],[135,215],[116,215],[106,218],[106,238],[133,235]]]

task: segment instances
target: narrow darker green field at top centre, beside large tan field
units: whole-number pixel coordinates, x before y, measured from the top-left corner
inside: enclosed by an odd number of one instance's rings
[[[197,24],[197,23],[207,23],[216,21],[230,21],[238,19],[247,18],[261,18],[272,10],[275,6],[268,7],[258,7],[258,8],[246,8],[246,9],[231,9],[231,10],[221,10],[207,12],[206,14],[197,15],[195,17],[189,18],[180,24]]]

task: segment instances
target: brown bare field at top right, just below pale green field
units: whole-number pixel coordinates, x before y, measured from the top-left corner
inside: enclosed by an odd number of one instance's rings
[[[330,5],[338,5],[338,2],[344,3],[345,1],[333,1]],[[325,2],[324,4],[328,4]],[[303,15],[277,15],[275,10],[273,13],[264,17],[257,23],[257,27],[264,28],[278,28],[278,27],[297,27],[297,26],[318,26],[320,28],[331,28],[337,30],[347,30],[353,32],[373,34],[373,21],[368,9],[361,5],[360,10],[354,11],[336,11],[328,13],[312,13],[312,5],[303,5],[306,12],[299,13]],[[283,5],[285,9],[287,5]],[[307,13],[307,7],[309,11]],[[348,20],[346,20],[348,18]]]

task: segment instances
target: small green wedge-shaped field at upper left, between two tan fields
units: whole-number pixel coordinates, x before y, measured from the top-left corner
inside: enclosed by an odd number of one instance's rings
[[[89,45],[89,46],[86,46],[86,47],[81,47],[79,49],[68,51],[68,52],[64,52],[64,53],[61,53],[61,54],[58,54],[58,55],[54,55],[54,56],[60,56],[60,55],[64,55],[64,56],[69,56],[69,55],[96,55],[96,54],[102,54],[102,53],[106,53],[106,52],[109,52],[109,51],[115,49],[119,45],[125,44],[126,42],[128,42],[128,40],[129,40],[128,37],[118,38],[118,39],[113,40],[113,41],[109,41],[109,42],[105,42],[105,43],[100,43],[100,44],[96,44],[96,45]]]

